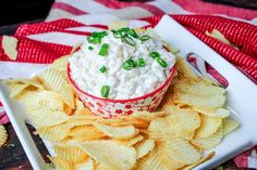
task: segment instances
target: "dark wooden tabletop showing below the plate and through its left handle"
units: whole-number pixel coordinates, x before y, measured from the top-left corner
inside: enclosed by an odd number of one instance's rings
[[[4,126],[8,130],[8,142],[0,147],[0,170],[32,170],[32,166],[22,148],[21,143],[17,140],[15,131],[13,130],[11,123]],[[28,126],[30,133],[35,130]],[[48,152],[42,143],[42,141],[35,134],[33,134],[34,141],[37,144],[38,149],[44,156],[45,160],[47,159]],[[236,169],[232,160],[223,164],[217,170],[240,170]],[[243,170],[243,169],[241,169]]]

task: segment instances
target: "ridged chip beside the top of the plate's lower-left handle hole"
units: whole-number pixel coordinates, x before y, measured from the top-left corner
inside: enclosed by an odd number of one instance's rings
[[[58,125],[53,127],[42,127],[37,129],[36,133],[40,135],[40,138],[46,139],[51,142],[58,142],[63,140],[69,134],[70,129],[68,129],[64,125]]]

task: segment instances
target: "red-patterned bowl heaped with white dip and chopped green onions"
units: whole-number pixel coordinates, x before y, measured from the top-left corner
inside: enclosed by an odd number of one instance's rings
[[[105,118],[154,112],[174,75],[175,56],[154,30],[93,32],[68,63],[79,99]]]

